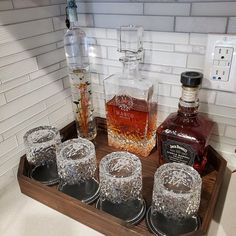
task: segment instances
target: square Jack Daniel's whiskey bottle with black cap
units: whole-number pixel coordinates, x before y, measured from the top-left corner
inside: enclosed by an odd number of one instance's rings
[[[189,71],[181,74],[182,96],[179,109],[158,127],[159,164],[181,162],[202,173],[207,163],[206,146],[213,122],[198,113],[198,90],[203,75]]]

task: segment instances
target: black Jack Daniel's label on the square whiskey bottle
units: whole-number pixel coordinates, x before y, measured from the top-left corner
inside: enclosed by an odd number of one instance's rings
[[[193,148],[174,140],[162,142],[162,154],[166,162],[179,162],[192,166],[197,156]]]

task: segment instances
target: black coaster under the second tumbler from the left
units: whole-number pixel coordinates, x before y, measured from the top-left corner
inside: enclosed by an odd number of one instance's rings
[[[99,197],[99,183],[96,179],[72,185],[61,182],[58,190],[87,204],[93,203]]]

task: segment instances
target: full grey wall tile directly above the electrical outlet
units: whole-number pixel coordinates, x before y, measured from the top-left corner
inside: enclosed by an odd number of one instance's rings
[[[176,17],[177,32],[225,33],[226,17]]]

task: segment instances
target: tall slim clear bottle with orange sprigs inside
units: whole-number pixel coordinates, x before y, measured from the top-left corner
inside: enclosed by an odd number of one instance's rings
[[[64,47],[69,68],[73,110],[78,136],[92,140],[96,137],[93,117],[92,91],[89,71],[88,39],[78,27],[75,0],[67,0],[66,24],[69,28],[64,36]]]

